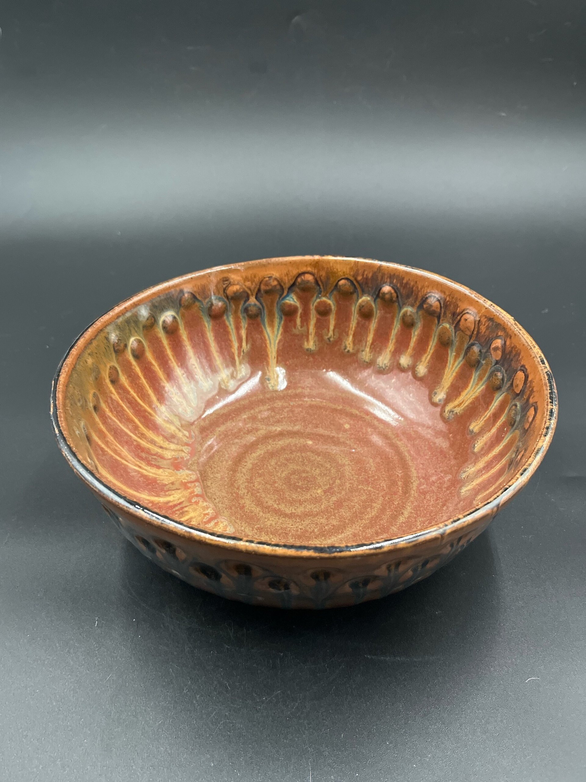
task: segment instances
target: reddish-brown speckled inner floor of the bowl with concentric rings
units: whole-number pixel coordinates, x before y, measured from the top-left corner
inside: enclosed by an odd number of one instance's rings
[[[194,467],[235,534],[349,545],[455,511],[470,440],[410,373],[298,372],[277,391],[263,379],[214,400],[195,425]]]

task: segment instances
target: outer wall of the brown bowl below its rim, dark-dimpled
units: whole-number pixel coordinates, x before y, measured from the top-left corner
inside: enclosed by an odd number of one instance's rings
[[[398,592],[451,561],[496,514],[495,509],[487,511],[466,529],[410,541],[391,551],[341,557],[313,557],[304,551],[284,557],[156,530],[98,499],[123,536],[163,570],[220,597],[270,608],[341,608]]]

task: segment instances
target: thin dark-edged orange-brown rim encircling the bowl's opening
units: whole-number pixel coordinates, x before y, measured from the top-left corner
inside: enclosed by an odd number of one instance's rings
[[[534,449],[531,454],[526,455],[520,466],[517,468],[513,475],[513,478],[499,490],[495,495],[485,500],[483,503],[478,504],[471,508],[470,511],[450,518],[447,522],[441,522],[426,529],[409,533],[394,538],[388,538],[385,540],[377,540],[370,543],[353,543],[347,546],[334,546],[334,545],[297,545],[294,543],[275,543],[266,540],[253,540],[236,535],[229,535],[226,533],[211,532],[208,529],[202,529],[198,527],[187,526],[183,522],[178,522],[173,518],[160,514],[156,511],[152,511],[150,508],[146,508],[136,500],[130,500],[122,493],[113,490],[102,479],[98,478],[94,472],[86,467],[77,454],[73,450],[66,439],[65,433],[61,427],[59,421],[59,405],[58,405],[58,393],[62,382],[67,382],[70,373],[63,375],[63,368],[66,365],[73,350],[77,348],[80,341],[88,337],[88,335],[95,336],[102,328],[102,326],[111,323],[116,317],[124,314],[128,310],[134,309],[138,306],[138,301],[143,298],[152,299],[159,293],[165,292],[167,289],[177,287],[188,281],[193,281],[199,276],[209,274],[210,272],[222,273],[224,271],[234,270],[234,268],[241,269],[242,267],[250,267],[263,264],[286,264],[290,261],[298,260],[341,260],[351,261],[354,263],[361,263],[366,261],[368,263],[375,263],[378,266],[389,267],[396,270],[408,270],[419,274],[421,277],[429,279],[431,281],[438,281],[447,283],[452,289],[463,292],[466,295],[472,296],[473,300],[477,300],[479,303],[484,304],[488,310],[495,310],[504,321],[507,322],[509,328],[513,332],[523,339],[529,349],[534,353],[538,367],[541,372],[541,379],[543,380],[547,393],[545,394],[547,409],[544,418],[544,424],[539,433],[538,440],[535,443]],[[88,340],[89,341],[89,340]],[[160,282],[156,285],[152,285],[133,296],[123,300],[115,307],[112,307],[107,312],[97,317],[95,321],[91,322],[84,330],[77,336],[77,339],[73,341],[70,348],[66,351],[62,360],[59,362],[55,377],[52,381],[51,388],[51,421],[53,429],[55,431],[55,437],[59,445],[59,449],[63,453],[63,456],[68,461],[73,471],[88,484],[91,490],[93,490],[98,497],[102,497],[104,500],[113,504],[127,514],[138,516],[143,521],[150,525],[159,527],[159,529],[167,529],[172,533],[178,534],[181,537],[198,541],[200,543],[208,543],[218,547],[230,549],[232,551],[244,551],[248,553],[255,552],[257,554],[277,554],[279,556],[288,557],[315,557],[319,555],[320,558],[327,557],[344,557],[352,556],[356,554],[369,554],[380,553],[381,551],[392,551],[395,549],[401,549],[409,547],[413,543],[419,543],[423,540],[433,539],[435,537],[444,538],[448,533],[455,532],[456,530],[465,530],[468,527],[475,526],[476,522],[480,522],[484,518],[493,518],[498,509],[508,502],[516,493],[518,493],[523,486],[527,483],[535,470],[541,464],[545,452],[548,450],[549,444],[552,441],[553,434],[556,429],[558,411],[558,397],[556,391],[556,383],[553,379],[552,371],[549,368],[548,362],[545,360],[545,356],[541,352],[534,339],[529,335],[525,329],[517,323],[517,321],[509,315],[497,304],[492,303],[490,300],[481,296],[481,294],[473,291],[472,289],[462,285],[459,282],[454,282],[448,277],[444,277],[441,274],[435,274],[431,271],[426,271],[418,267],[407,266],[406,264],[397,264],[395,262],[385,262],[373,260],[371,258],[359,258],[359,257],[346,257],[346,256],[319,256],[319,255],[306,255],[306,256],[282,256],[276,258],[263,258],[259,260],[248,260],[241,263],[225,264],[223,266],[208,267],[199,271],[193,271],[188,274],[181,274],[179,277],[171,278],[164,282]]]

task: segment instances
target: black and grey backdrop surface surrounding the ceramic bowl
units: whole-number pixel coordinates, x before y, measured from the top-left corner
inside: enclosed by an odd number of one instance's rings
[[[584,780],[584,8],[0,6],[2,779]],[[469,285],[559,389],[552,447],[487,533],[320,614],[151,565],[48,421],[103,311],[295,253]]]

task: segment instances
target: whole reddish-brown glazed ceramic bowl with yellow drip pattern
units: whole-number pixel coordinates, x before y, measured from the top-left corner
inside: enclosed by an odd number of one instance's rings
[[[556,424],[508,314],[398,264],[198,271],[100,317],[52,422],[124,536],[195,587],[329,608],[452,559],[531,478]]]

